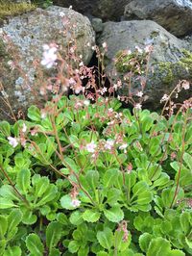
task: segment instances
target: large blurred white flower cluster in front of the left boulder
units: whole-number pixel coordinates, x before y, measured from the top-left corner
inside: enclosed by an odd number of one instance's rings
[[[57,47],[55,45],[43,45],[43,59],[40,64],[45,65],[47,68],[52,67],[57,60]]]

